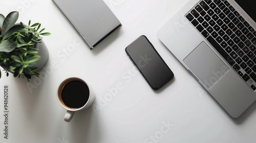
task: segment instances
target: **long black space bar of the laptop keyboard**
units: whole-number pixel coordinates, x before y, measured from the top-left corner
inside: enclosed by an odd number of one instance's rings
[[[209,43],[220,53],[220,55],[231,65],[234,65],[234,60],[227,54],[227,52],[222,49],[222,47],[218,44],[218,42],[212,38],[211,36],[209,36],[207,38],[207,40],[209,41]]]

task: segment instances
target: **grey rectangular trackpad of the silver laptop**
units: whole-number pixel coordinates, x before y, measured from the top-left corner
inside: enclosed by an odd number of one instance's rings
[[[208,88],[229,70],[205,42],[201,42],[183,61]]]

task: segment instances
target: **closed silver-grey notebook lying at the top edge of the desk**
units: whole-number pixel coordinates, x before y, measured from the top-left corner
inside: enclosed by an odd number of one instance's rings
[[[93,49],[121,26],[102,0],[53,0],[84,41]]]

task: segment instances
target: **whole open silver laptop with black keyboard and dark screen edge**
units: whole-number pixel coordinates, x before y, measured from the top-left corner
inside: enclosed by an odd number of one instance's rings
[[[190,0],[158,38],[234,117],[256,99],[256,15],[251,0]]]

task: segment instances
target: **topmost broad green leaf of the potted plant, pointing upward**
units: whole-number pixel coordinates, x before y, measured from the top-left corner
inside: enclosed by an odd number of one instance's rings
[[[2,31],[2,35],[5,35],[5,33],[14,26],[14,24],[16,23],[18,19],[18,12],[17,11],[13,11],[11,13],[9,13],[4,22],[3,22],[3,31]]]

